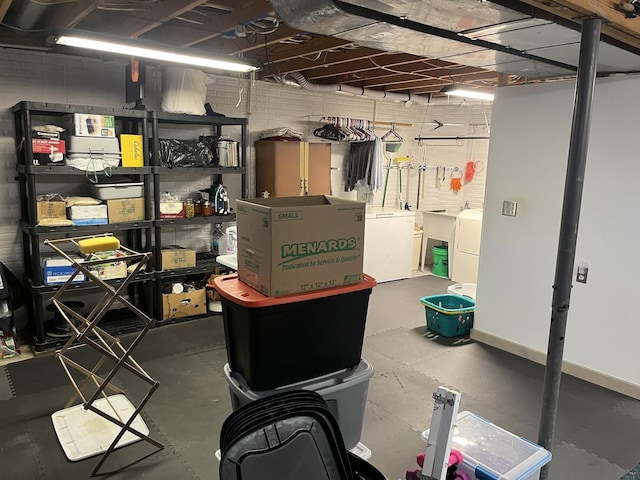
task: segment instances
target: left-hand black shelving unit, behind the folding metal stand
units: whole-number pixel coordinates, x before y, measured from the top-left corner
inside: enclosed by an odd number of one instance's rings
[[[38,185],[46,182],[78,183],[82,185],[86,172],[64,165],[33,165],[32,130],[38,123],[57,123],[62,125],[62,117],[73,113],[113,115],[116,119],[118,133],[140,134],[143,139],[148,135],[148,112],[124,108],[95,107],[86,105],[68,105],[43,102],[22,101],[12,108],[15,122],[17,180],[21,201],[21,232],[23,261],[27,279],[29,302],[28,314],[31,322],[33,340],[36,351],[55,349],[66,341],[64,338],[49,337],[45,331],[44,303],[47,297],[57,291],[53,285],[45,285],[41,265],[43,241],[47,238],[61,238],[77,235],[92,235],[104,232],[119,232],[126,237],[128,246],[136,249],[151,249],[152,246],[152,169],[149,165],[148,149],[144,151],[144,166],[137,168],[116,167],[109,171],[109,176],[97,172],[99,182],[112,182],[113,177],[126,176],[132,181],[143,183],[145,198],[145,220],[138,222],[83,225],[83,226],[40,226],[37,223],[36,196]],[[153,307],[152,272],[139,275],[129,287],[130,298],[134,298],[141,308],[151,311]],[[118,280],[109,281],[114,285]],[[90,289],[82,283],[75,284],[72,291],[78,296],[86,294]],[[123,318],[120,314],[109,315],[104,320],[105,330],[113,334],[128,333],[143,327],[142,322]]]

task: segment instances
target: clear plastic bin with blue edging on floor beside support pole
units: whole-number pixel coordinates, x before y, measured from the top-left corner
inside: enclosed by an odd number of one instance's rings
[[[551,453],[471,412],[460,412],[451,448],[464,456],[462,470],[478,480],[536,480]],[[429,430],[422,433],[426,442]]]

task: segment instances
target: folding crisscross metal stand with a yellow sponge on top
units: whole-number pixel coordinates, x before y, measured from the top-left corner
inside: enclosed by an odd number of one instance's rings
[[[141,410],[144,408],[146,403],[149,401],[149,399],[159,386],[159,383],[154,380],[147,372],[145,372],[140,364],[138,364],[138,362],[136,362],[131,356],[133,350],[135,350],[135,348],[138,346],[140,341],[143,339],[143,337],[151,327],[153,319],[150,318],[146,313],[138,309],[127,298],[123,296],[134,277],[145,268],[149,260],[149,254],[138,253],[121,246],[119,248],[119,251],[122,252],[124,256],[119,257],[115,260],[98,258],[98,256],[96,256],[95,254],[87,254],[84,260],[80,262],[79,260],[70,256],[68,252],[69,248],[75,247],[77,249],[78,242],[80,240],[89,238],[100,238],[111,235],[112,234],[91,235],[84,237],[64,238],[59,240],[45,240],[44,242],[46,245],[49,245],[51,248],[53,248],[62,257],[71,262],[73,267],[75,268],[75,272],[51,298],[51,302],[62,314],[73,332],[67,343],[62,347],[60,351],[56,353],[56,356],[60,360],[62,367],[69,377],[69,380],[73,384],[74,389],[76,390],[76,393],[65,405],[65,409],[71,407],[71,405],[73,405],[73,403],[78,398],[80,398],[82,400],[84,410],[89,410],[120,428],[119,433],[113,439],[109,447],[104,451],[102,458],[91,473],[91,476],[97,475],[104,462],[113,452],[113,450],[117,448],[118,443],[121,442],[121,439],[127,432],[135,435],[140,440],[145,440],[146,442],[154,445],[155,447],[157,447],[157,451],[160,451],[164,448],[164,445],[162,445],[160,442],[152,439],[148,434],[141,432],[139,428],[135,428],[132,426],[134,420],[136,420]],[[67,248],[67,251],[63,250],[64,247]],[[91,267],[104,265],[114,261],[124,261],[127,262],[127,264],[131,264],[131,266],[127,269],[127,277],[122,281],[122,283],[117,286],[117,288],[107,283],[107,281],[99,278],[91,270]],[[97,305],[87,316],[80,315],[78,312],[65,305],[61,300],[64,293],[73,283],[73,280],[80,273],[84,273],[88,281],[94,282],[95,286],[99,287],[105,292],[98,301]],[[135,337],[128,348],[123,347],[118,338],[110,335],[98,326],[100,320],[104,317],[104,315],[116,301],[119,301],[121,304],[126,306],[131,312],[138,316],[144,324],[142,330],[138,333],[138,335]],[[94,348],[96,351],[98,351],[98,353],[102,355],[102,357],[93,368],[85,368],[84,366],[78,364],[68,357],[69,349],[76,342],[82,342]],[[115,364],[105,376],[98,375],[98,371],[102,368],[106,360],[111,360]],[[77,381],[71,374],[69,367],[77,372],[80,372],[80,374],[82,374],[84,378],[81,381]],[[140,378],[140,380],[146,382],[149,385],[149,391],[144,396],[140,404],[134,409],[129,418],[125,418],[123,417],[123,415],[118,413],[118,409],[114,406],[111,397],[107,396],[105,392],[105,390],[108,389],[116,393],[124,394],[121,389],[111,383],[114,376],[120,369],[125,369],[131,372],[133,375]],[[87,388],[91,388],[89,393],[85,393],[85,390]],[[96,405],[96,400],[99,399],[102,408],[98,408],[98,406]],[[108,406],[108,408],[105,408],[105,406]],[[142,424],[144,425],[144,422],[142,422]],[[88,432],[88,435],[90,434],[91,433]],[[134,439],[134,441],[137,440]],[[127,443],[131,443],[131,441]]]

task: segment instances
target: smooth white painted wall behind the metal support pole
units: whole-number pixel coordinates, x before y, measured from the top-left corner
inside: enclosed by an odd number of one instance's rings
[[[637,76],[595,90],[565,360],[640,385],[635,294],[640,178]],[[575,82],[499,89],[489,151],[474,329],[546,354]],[[518,202],[517,217],[501,215]]]

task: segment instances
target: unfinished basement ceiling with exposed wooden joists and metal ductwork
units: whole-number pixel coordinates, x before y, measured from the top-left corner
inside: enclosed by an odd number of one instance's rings
[[[424,95],[572,76],[579,21],[595,12],[610,20],[600,73],[640,71],[640,19],[557,1],[0,0],[0,45],[48,50],[45,30],[71,28],[251,58],[265,79]]]

